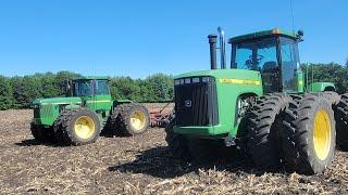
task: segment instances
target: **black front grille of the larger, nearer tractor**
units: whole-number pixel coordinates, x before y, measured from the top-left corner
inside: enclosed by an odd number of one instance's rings
[[[219,122],[215,80],[212,77],[208,80],[206,77],[206,82],[199,79],[200,82],[175,86],[176,126],[214,126]]]

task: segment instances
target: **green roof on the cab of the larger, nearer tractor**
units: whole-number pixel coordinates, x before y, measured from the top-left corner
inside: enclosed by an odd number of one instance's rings
[[[270,36],[283,36],[293,39],[298,39],[299,36],[295,31],[286,31],[281,28],[274,28],[270,30],[256,31],[252,34],[241,35],[237,37],[233,37],[228,40],[229,43],[241,42],[245,40],[251,40],[256,38],[270,37]]]

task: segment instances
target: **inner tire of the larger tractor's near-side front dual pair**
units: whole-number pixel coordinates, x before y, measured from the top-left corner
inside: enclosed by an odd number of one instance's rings
[[[278,134],[290,100],[285,94],[270,94],[260,99],[250,112],[247,123],[247,154],[261,169],[272,169],[281,165]]]

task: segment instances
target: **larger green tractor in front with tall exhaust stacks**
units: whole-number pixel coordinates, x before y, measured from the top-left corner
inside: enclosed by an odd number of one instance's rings
[[[171,155],[207,159],[224,151],[220,146],[237,146],[264,170],[287,164],[301,173],[323,171],[333,160],[336,126],[347,129],[348,95],[340,99],[331,82],[311,82],[301,69],[303,32],[271,29],[231,38],[226,68],[219,31],[221,69],[217,36],[210,35],[211,69],[175,77],[175,118],[166,127]]]

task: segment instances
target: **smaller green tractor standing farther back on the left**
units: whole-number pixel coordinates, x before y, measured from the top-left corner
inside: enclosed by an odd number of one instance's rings
[[[128,100],[113,101],[108,77],[84,77],[66,82],[66,98],[34,101],[32,134],[40,142],[84,145],[101,130],[136,135],[149,127],[149,113]],[[111,132],[111,133],[110,133]]]

